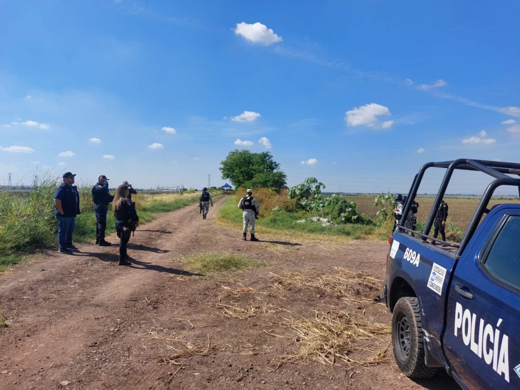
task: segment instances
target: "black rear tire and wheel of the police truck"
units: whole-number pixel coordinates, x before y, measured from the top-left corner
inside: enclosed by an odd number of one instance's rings
[[[397,366],[410,378],[432,378],[436,368],[424,362],[421,309],[417,298],[405,296],[397,301],[392,315],[392,344]]]

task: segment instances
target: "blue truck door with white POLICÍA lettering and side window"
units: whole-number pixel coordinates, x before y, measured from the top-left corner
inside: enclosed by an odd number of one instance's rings
[[[471,389],[520,388],[520,214],[504,210],[483,221],[449,287],[445,354]]]

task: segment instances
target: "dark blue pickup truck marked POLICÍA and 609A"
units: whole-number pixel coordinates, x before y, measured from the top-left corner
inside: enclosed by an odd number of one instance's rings
[[[405,221],[430,168],[445,170],[444,179],[424,230],[415,231]],[[489,184],[460,243],[451,243],[429,234],[456,170],[484,173]],[[488,209],[500,186],[520,198],[519,176],[518,163],[471,159],[427,163],[415,175],[388,240],[382,295],[407,376],[444,368],[464,389],[520,389],[520,202]]]

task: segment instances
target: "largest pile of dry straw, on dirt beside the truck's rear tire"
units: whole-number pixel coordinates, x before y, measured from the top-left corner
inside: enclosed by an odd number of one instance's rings
[[[285,318],[280,323],[295,334],[294,342],[299,349],[296,354],[283,355],[282,362],[311,359],[337,369],[350,369],[386,361],[384,355],[389,344],[383,349],[373,350],[370,343],[360,345],[359,341],[372,341],[389,334],[389,325],[344,310],[315,310],[315,313],[314,319]]]

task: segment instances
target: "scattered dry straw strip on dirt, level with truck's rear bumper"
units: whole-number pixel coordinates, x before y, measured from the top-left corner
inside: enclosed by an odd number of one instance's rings
[[[271,285],[277,289],[311,290],[320,294],[334,295],[343,300],[355,299],[358,302],[373,302],[373,293],[381,289],[381,280],[371,277],[365,272],[353,269],[334,267],[331,274],[321,276],[305,272],[289,272],[283,276],[272,274],[275,281]]]

